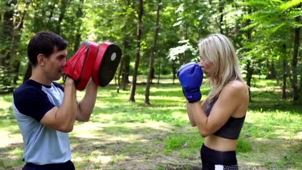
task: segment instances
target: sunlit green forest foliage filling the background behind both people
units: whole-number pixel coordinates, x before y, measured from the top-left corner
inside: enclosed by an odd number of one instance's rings
[[[1,36],[4,12],[13,9],[14,20],[26,11],[21,28],[19,46],[11,63],[20,62],[17,74],[23,75],[27,66],[27,43],[38,31],[59,33],[69,42],[70,58],[83,40],[97,43],[111,41],[122,48],[123,55],[134,63],[137,30],[137,1],[132,0],[31,0],[25,10],[24,0],[14,5],[0,1],[0,59],[10,52],[11,37]],[[67,2],[67,3],[64,3]],[[180,65],[198,61],[198,41],[220,27],[233,42],[242,70],[252,60],[256,74],[266,74],[266,63],[287,59],[293,53],[293,28],[301,27],[301,0],[224,0],[223,11],[219,0],[162,0],[160,5],[159,33],[156,44],[154,73],[172,74]],[[146,75],[155,29],[156,0],[144,1],[143,34],[139,74]],[[65,9],[65,10],[63,10]],[[248,14],[248,9],[251,13]],[[61,18],[63,16],[63,18]],[[223,16],[223,23],[220,23]],[[60,18],[62,20],[60,20]],[[59,23],[60,20],[60,23]],[[247,21],[250,23],[247,25]],[[247,42],[246,31],[252,30],[252,42]],[[283,49],[286,44],[286,51]],[[266,62],[267,61],[267,62]],[[276,70],[282,65],[276,62]],[[298,62],[298,67],[301,66]],[[5,66],[11,67],[11,66]],[[291,66],[288,66],[291,69]],[[130,75],[132,70],[130,66]],[[243,71],[244,72],[244,71]],[[300,73],[301,74],[301,73]],[[298,80],[299,82],[299,80]]]

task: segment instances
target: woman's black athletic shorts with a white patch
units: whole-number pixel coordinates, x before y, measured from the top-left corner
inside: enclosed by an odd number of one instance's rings
[[[215,151],[203,144],[200,155],[202,170],[239,170],[235,151]]]

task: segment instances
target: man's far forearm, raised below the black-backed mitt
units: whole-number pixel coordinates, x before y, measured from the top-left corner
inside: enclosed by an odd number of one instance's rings
[[[88,121],[93,111],[97,94],[97,86],[90,78],[84,98],[77,104],[76,120]]]

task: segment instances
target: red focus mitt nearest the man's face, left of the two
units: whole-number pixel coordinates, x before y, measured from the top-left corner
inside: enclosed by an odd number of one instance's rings
[[[66,62],[64,73],[75,81],[77,90],[83,90],[88,84],[97,54],[98,44],[84,41],[75,55]]]

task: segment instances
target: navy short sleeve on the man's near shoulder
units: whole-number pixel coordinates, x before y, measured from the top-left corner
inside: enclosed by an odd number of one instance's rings
[[[38,122],[55,107],[44,91],[34,87],[13,92],[13,101],[20,113],[31,116]]]

